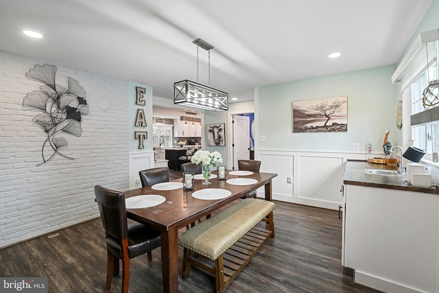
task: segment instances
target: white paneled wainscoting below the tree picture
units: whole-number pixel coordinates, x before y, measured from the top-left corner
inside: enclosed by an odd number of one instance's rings
[[[344,202],[340,187],[345,163],[365,160],[366,154],[259,150],[255,159],[262,162],[261,172],[278,174],[272,181],[274,200],[338,210]],[[264,196],[263,188],[258,196]]]

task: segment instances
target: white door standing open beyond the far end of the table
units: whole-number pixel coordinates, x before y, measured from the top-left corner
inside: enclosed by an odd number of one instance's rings
[[[250,159],[250,117],[233,115],[233,169],[238,169],[238,160]]]

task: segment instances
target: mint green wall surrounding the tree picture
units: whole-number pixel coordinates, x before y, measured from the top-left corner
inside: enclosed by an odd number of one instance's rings
[[[285,82],[259,88],[260,150],[312,150],[352,152],[353,143],[360,143],[366,152],[372,143],[374,152],[382,152],[385,129],[396,143],[396,86],[390,77],[394,65],[328,75],[308,80]],[[348,97],[347,132],[292,132],[292,102]]]

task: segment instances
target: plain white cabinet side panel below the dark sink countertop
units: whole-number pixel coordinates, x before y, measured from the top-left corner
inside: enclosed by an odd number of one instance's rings
[[[343,265],[384,292],[438,292],[438,195],[346,185]]]

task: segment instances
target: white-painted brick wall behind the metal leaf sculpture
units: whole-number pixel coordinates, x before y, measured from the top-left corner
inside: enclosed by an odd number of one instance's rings
[[[78,80],[89,113],[80,137],[62,133],[62,154],[74,159],[36,166],[46,136],[32,121],[39,112],[22,104],[41,85],[25,73],[45,63],[58,67],[57,84]],[[0,51],[0,248],[98,217],[95,185],[128,189],[128,134],[126,80]]]

